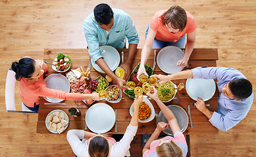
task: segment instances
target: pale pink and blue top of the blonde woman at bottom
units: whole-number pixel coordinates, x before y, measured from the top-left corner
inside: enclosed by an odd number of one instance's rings
[[[155,152],[155,148],[157,148],[157,146],[159,145],[159,143],[161,143],[161,141],[165,141],[165,140],[174,141],[174,143],[176,143],[178,147],[182,148],[183,155],[186,156],[188,152],[188,145],[186,143],[186,139],[183,133],[178,131],[174,133],[174,137],[166,136],[163,139],[157,139],[155,141],[152,141],[150,144],[150,150],[145,151],[143,154],[143,157],[155,156],[155,155],[157,156]]]

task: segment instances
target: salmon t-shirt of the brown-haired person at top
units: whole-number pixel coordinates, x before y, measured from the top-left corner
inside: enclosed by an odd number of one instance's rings
[[[170,42],[176,42],[178,39],[182,38],[183,35],[186,33],[192,33],[197,29],[197,24],[195,23],[195,18],[189,13],[187,14],[187,24],[186,27],[182,31],[178,31],[177,33],[170,33],[166,26],[163,24],[163,19],[161,18],[161,15],[166,12],[166,10],[159,10],[153,18],[151,18],[151,22],[149,24],[149,27],[153,31],[157,31],[157,34],[155,35],[155,38],[160,41],[170,41]]]

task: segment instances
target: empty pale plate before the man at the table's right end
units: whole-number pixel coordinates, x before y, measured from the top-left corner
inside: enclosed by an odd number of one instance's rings
[[[195,101],[197,101],[197,97],[201,97],[203,101],[211,99],[215,90],[216,85],[213,79],[187,79],[186,81],[188,96]]]

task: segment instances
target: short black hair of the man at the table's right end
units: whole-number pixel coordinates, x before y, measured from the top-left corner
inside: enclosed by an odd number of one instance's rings
[[[247,79],[231,80],[228,87],[236,99],[245,99],[251,96],[253,92],[253,86]]]

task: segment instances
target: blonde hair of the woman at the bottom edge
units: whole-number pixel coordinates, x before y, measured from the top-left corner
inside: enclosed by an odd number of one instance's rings
[[[159,157],[166,157],[166,156],[182,157],[183,156],[182,149],[178,147],[178,145],[176,145],[174,141],[163,143],[162,145],[157,146],[157,148],[155,148],[155,151],[157,152],[157,156]]]

